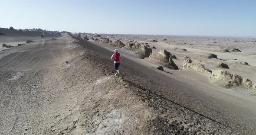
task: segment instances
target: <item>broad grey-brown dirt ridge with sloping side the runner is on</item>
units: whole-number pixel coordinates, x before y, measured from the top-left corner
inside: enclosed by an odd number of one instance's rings
[[[109,49],[68,36],[0,52],[0,134],[255,132],[254,110],[168,77],[125,52],[122,75],[114,76]]]

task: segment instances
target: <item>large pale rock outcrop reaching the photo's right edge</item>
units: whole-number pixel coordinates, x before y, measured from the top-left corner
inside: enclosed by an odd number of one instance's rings
[[[213,70],[212,76],[210,77],[210,81],[211,83],[221,87],[243,87],[256,93],[256,91],[254,90],[254,85],[252,84],[251,80],[243,78],[237,74],[229,73],[228,71],[224,71],[221,69]]]

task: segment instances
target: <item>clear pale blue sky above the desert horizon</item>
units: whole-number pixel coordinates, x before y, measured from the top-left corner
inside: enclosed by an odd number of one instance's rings
[[[256,0],[0,0],[0,27],[256,38]]]

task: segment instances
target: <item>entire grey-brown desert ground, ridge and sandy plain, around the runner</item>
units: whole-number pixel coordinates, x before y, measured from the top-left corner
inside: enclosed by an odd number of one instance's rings
[[[0,42],[21,42],[21,35],[0,35]],[[256,39],[89,33],[33,38],[0,51],[1,135],[256,132]],[[124,57],[119,76],[110,59],[115,48]]]

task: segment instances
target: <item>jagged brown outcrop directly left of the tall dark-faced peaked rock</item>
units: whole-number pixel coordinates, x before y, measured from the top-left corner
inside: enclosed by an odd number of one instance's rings
[[[149,57],[149,55],[152,53],[151,48],[148,48],[146,45],[141,45],[138,42],[128,42],[128,45],[126,45],[125,48],[131,51],[136,51],[142,57]]]

